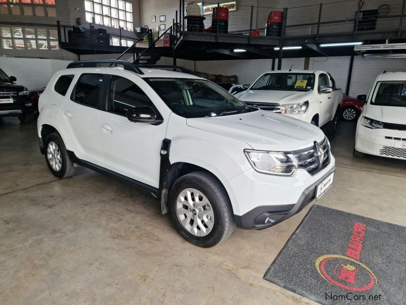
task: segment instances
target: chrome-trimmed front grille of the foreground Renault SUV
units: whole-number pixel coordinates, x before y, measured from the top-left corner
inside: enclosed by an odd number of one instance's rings
[[[299,161],[298,168],[306,169],[312,176],[317,174],[330,163],[330,149],[327,146],[326,138],[324,138],[319,144],[324,151],[323,162],[320,167],[317,166],[313,146],[293,151],[293,155]]]

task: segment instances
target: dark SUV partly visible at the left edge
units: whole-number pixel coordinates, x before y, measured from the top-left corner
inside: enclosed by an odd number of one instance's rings
[[[33,112],[33,108],[27,88],[15,84],[16,80],[0,69],[0,117],[18,116],[23,122],[26,115]]]

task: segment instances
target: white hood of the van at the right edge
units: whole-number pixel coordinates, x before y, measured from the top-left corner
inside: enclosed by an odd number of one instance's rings
[[[366,105],[365,116],[385,123],[406,125],[406,107]]]

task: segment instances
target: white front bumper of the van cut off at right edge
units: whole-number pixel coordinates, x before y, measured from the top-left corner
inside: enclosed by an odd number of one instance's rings
[[[359,120],[355,149],[364,154],[406,160],[406,131],[370,129]]]

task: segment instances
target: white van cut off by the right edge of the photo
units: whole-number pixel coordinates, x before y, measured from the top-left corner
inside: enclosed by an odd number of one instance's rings
[[[382,73],[358,119],[354,156],[406,159],[406,72]]]

